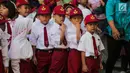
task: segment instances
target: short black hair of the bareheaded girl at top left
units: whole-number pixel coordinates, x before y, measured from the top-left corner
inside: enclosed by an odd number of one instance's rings
[[[12,19],[15,17],[16,9],[15,9],[15,5],[11,1],[1,2],[0,5],[3,5],[6,8],[8,8],[8,10],[9,10],[8,18]]]

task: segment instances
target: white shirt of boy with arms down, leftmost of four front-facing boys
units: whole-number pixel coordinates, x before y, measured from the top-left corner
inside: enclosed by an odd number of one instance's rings
[[[29,36],[31,44],[36,46],[37,49],[52,49],[53,47],[49,45],[46,47],[44,45],[44,27],[47,29],[47,35],[48,35],[48,41],[50,44],[50,37],[49,34],[52,24],[48,23],[47,25],[44,25],[40,22],[39,19],[36,19],[36,21],[33,23],[32,29],[31,29],[31,35]]]

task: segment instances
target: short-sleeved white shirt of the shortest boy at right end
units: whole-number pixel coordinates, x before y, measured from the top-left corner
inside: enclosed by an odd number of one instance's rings
[[[86,57],[94,56],[92,36],[95,37],[96,45],[98,48],[98,54],[100,55],[101,51],[105,49],[100,37],[97,34],[94,33],[92,35],[91,33],[86,31],[86,33],[81,37],[78,45],[78,50],[85,52]]]

